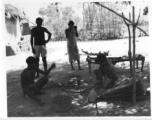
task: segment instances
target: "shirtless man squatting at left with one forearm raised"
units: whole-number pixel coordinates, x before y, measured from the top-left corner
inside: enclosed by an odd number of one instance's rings
[[[37,67],[37,61],[34,57],[28,57],[26,59],[26,63],[28,66],[21,73],[21,87],[23,88],[23,93],[24,95],[28,95],[32,99],[40,102],[40,104],[43,104],[44,102],[41,99],[37,98],[33,93],[43,93],[41,89],[48,82],[47,75],[53,68],[55,68],[55,63],[53,63],[45,72]],[[35,73],[37,71],[44,76],[35,83],[34,79]]]

